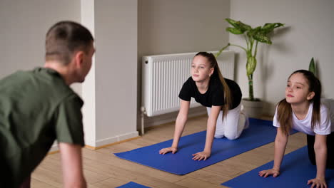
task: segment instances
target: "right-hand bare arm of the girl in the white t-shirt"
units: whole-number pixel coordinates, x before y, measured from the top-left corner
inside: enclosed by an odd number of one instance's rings
[[[325,182],[325,168],[327,160],[327,143],[326,135],[315,134],[314,152],[315,162],[317,164],[317,176],[315,179],[308,180],[312,187],[327,187]]]

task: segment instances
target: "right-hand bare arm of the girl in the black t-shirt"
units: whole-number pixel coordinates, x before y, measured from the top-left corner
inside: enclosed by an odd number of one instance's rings
[[[203,152],[193,154],[193,160],[206,160],[211,155],[211,147],[213,143],[213,137],[216,132],[216,123],[219,113],[221,112],[221,106],[212,106],[211,113],[208,117],[208,124],[206,130],[206,145]]]

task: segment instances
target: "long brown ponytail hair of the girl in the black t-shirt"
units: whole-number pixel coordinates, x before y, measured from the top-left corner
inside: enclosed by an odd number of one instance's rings
[[[219,78],[219,80],[221,80],[221,84],[223,85],[223,88],[224,88],[223,98],[224,98],[224,103],[225,103],[225,105],[223,105],[223,117],[226,117],[228,110],[232,106],[232,95],[231,95],[231,90],[225,81],[225,78],[221,74],[221,70],[218,67],[217,60],[215,56],[213,55],[213,53],[208,53],[208,52],[203,52],[203,51],[198,52],[196,56],[206,57],[208,59],[208,62],[210,63],[210,67],[213,68],[214,70],[211,77],[212,78],[216,77],[216,78]]]

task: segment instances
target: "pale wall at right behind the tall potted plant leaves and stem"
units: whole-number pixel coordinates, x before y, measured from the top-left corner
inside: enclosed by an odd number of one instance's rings
[[[267,22],[285,23],[275,31],[273,45],[262,45],[258,51],[258,67],[254,73],[254,95],[268,104],[265,112],[273,115],[275,103],[284,98],[288,75],[298,69],[308,69],[312,57],[318,66],[323,84],[323,96],[334,98],[334,1],[331,0],[233,0],[231,18],[251,26]],[[230,35],[231,43],[243,44],[239,36]],[[236,49],[236,48],[233,48]],[[246,57],[237,58],[237,81],[248,97]]]

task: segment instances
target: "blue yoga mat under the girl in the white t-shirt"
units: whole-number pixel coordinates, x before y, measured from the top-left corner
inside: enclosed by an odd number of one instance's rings
[[[283,162],[280,166],[280,175],[278,177],[260,177],[258,172],[263,169],[270,169],[273,167],[273,161],[263,164],[263,166],[246,172],[234,179],[224,182],[223,185],[227,187],[255,187],[258,188],[295,188],[295,187],[310,187],[308,180],[315,178],[316,167],[308,160],[308,148],[302,147],[294,152],[284,156]],[[334,169],[326,169],[326,182],[328,187],[334,187]]]

